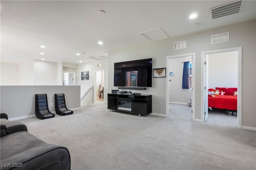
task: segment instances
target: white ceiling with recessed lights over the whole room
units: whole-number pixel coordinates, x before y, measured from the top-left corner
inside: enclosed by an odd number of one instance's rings
[[[85,57],[107,57],[111,49],[150,42],[140,33],[158,27],[176,37],[256,19],[256,1],[246,0],[241,13],[212,20],[209,9],[228,2],[233,1],[1,0],[1,62],[90,62],[93,59]],[[192,13],[198,17],[189,19]],[[200,25],[194,27],[195,23]]]

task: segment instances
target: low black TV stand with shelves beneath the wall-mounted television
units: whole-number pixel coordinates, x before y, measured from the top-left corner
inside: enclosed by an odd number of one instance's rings
[[[108,94],[108,109],[147,115],[152,113],[152,95]]]

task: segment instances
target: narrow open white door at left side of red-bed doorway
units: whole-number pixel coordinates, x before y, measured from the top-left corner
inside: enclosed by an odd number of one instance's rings
[[[208,118],[208,55],[204,55],[204,121]]]

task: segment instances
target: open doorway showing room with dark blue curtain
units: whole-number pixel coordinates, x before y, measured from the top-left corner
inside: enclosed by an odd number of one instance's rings
[[[195,53],[166,58],[166,116],[182,121],[195,119],[195,102],[189,102],[195,98],[194,59]]]

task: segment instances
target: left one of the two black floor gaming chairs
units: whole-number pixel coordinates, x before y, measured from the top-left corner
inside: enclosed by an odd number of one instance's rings
[[[36,117],[47,119],[54,116],[48,109],[47,94],[36,94]]]

